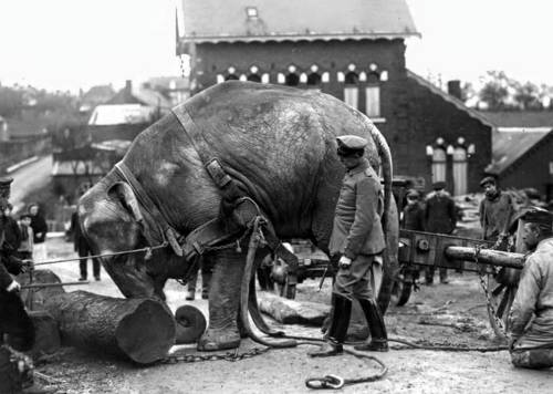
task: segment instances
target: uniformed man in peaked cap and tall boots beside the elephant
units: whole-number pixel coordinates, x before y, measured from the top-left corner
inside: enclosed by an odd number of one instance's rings
[[[334,215],[328,249],[341,256],[332,290],[333,317],[326,342],[311,356],[341,354],[349,325],[352,301],[356,298],[371,331],[371,342],[357,350],[388,350],[386,326],[371,288],[373,265],[382,263],[386,247],[380,217],[383,188],[380,179],[363,157],[367,141],[355,135],[336,138],[337,155],[346,168]]]

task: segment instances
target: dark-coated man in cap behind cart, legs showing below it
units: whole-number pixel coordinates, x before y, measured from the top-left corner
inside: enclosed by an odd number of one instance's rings
[[[425,208],[425,228],[428,232],[451,234],[457,226],[455,201],[446,191],[445,182],[436,182],[434,191],[429,193]],[[426,284],[434,283],[434,267],[426,270]],[[440,268],[440,283],[448,283],[447,268]]]

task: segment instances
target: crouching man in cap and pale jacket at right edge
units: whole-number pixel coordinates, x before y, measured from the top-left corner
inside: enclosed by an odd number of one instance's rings
[[[528,257],[510,313],[514,366],[553,366],[553,215],[535,208],[522,217]]]

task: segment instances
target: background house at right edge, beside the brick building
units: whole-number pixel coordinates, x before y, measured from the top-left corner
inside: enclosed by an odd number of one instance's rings
[[[502,187],[535,188],[553,199],[553,112],[482,112],[497,125],[486,168]]]

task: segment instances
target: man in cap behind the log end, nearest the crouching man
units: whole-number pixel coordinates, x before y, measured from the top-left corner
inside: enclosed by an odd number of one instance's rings
[[[491,176],[480,180],[480,187],[486,195],[479,207],[482,238],[495,242],[500,236],[507,235],[514,212],[513,201],[510,195],[498,188]]]

